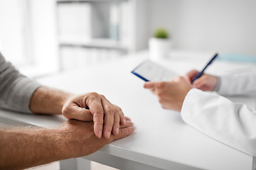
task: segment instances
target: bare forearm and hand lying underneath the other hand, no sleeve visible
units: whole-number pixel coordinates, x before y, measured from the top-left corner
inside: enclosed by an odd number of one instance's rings
[[[96,152],[113,140],[134,132],[126,118],[118,135],[109,139],[96,137],[92,122],[68,120],[55,128],[0,128],[0,169],[27,169],[63,159],[82,157]]]

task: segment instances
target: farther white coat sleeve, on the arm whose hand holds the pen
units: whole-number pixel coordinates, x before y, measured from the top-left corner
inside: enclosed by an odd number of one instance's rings
[[[218,94],[256,96],[256,73],[230,74],[220,77]]]

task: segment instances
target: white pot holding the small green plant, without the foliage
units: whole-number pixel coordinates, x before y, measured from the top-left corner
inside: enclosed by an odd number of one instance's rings
[[[150,59],[158,61],[167,58],[171,48],[171,40],[169,38],[150,38],[149,53]]]

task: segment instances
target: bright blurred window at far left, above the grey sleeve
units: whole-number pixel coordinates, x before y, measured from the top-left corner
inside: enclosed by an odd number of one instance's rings
[[[14,65],[31,62],[26,0],[0,1],[0,51]]]

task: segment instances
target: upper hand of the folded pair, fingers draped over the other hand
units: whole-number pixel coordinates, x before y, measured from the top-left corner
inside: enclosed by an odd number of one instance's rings
[[[95,135],[99,138],[110,138],[111,132],[119,134],[119,125],[125,125],[126,120],[121,108],[110,103],[105,96],[88,93],[73,96],[65,101],[62,109],[65,118],[92,121]]]

